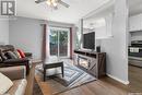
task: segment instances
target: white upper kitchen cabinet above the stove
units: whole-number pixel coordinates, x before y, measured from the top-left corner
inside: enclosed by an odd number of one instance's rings
[[[134,15],[129,19],[129,28],[130,32],[142,29],[142,14]]]

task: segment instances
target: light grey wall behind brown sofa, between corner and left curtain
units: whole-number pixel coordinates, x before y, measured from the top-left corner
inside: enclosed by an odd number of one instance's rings
[[[44,21],[27,17],[10,21],[10,44],[32,52],[35,59],[40,59],[43,23]]]

